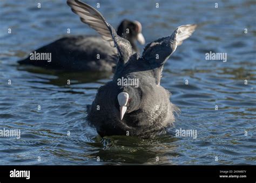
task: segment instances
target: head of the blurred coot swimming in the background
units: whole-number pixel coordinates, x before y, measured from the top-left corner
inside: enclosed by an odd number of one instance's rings
[[[138,21],[128,21],[125,19],[118,26],[117,34],[118,36],[129,40],[134,51],[138,51],[136,40],[142,45],[145,44],[145,38],[142,34],[142,24]]]

